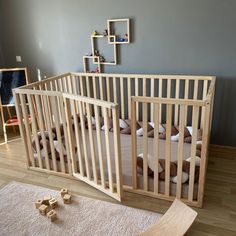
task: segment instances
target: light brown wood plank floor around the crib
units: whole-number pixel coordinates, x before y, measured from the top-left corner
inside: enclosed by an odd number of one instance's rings
[[[219,156],[219,155],[218,155]],[[204,208],[196,209],[197,220],[187,235],[236,235],[236,156],[211,157],[208,165]],[[20,140],[0,146],[0,187],[10,181],[51,189],[67,187],[72,193],[116,202],[87,184],[26,169]],[[125,193],[124,205],[164,213],[169,202]]]

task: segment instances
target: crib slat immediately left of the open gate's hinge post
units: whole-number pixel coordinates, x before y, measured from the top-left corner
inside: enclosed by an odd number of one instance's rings
[[[61,137],[61,127],[60,127],[60,116],[58,113],[58,101],[56,100],[55,96],[50,97],[51,104],[52,104],[52,114],[54,117],[54,124],[56,127],[56,134],[57,134],[57,141],[59,142],[59,156],[60,156],[60,165],[61,165],[61,172],[65,173],[65,161],[64,161],[64,154],[63,154],[63,144],[62,144],[62,137]]]

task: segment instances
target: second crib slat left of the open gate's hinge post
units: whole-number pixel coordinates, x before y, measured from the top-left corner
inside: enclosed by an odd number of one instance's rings
[[[45,125],[47,127],[48,136],[49,136],[49,143],[50,143],[50,149],[51,149],[51,155],[52,155],[52,163],[53,163],[53,170],[57,171],[57,161],[56,161],[56,155],[55,155],[55,148],[53,143],[53,135],[52,135],[52,129],[51,129],[51,122],[50,122],[50,113],[49,113],[49,107],[48,107],[48,99],[46,96],[43,96],[43,104],[45,108]]]

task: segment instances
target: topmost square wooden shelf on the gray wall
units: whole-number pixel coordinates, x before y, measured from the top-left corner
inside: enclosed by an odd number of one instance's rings
[[[114,25],[116,23],[126,24],[126,33],[124,38],[117,38],[116,32],[114,30]],[[108,31],[108,43],[109,44],[128,44],[130,43],[130,19],[109,19],[107,20],[107,31]]]

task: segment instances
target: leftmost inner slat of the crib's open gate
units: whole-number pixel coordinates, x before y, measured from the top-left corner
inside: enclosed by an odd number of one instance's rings
[[[79,173],[84,176],[84,164],[83,164],[83,161],[82,161],[82,147],[81,147],[81,144],[82,144],[82,141],[80,140],[80,134],[79,134],[79,119],[78,116],[77,116],[77,111],[78,109],[76,109],[76,105],[77,105],[77,102],[76,101],[73,101],[70,103],[71,104],[71,111],[72,111],[72,116],[73,116],[73,120],[74,120],[74,132],[75,132],[75,142],[76,142],[76,147],[77,147],[77,153],[78,153],[78,160],[79,160]],[[75,158],[76,160],[76,158]],[[74,167],[74,171],[77,170],[76,168],[77,166]]]

